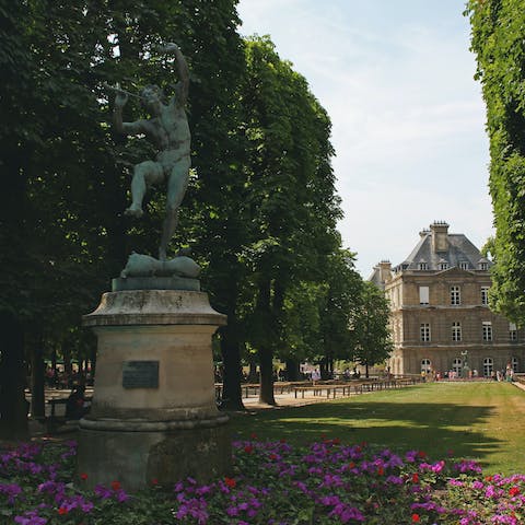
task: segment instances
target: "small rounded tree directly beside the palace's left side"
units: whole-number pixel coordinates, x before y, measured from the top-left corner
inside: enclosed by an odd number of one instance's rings
[[[364,365],[366,377],[369,368],[383,363],[393,350],[389,314],[390,308],[383,290],[364,281],[352,327],[355,337],[353,359]]]

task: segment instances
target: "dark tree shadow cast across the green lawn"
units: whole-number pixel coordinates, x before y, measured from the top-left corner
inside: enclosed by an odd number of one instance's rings
[[[416,393],[415,393],[416,394]],[[442,402],[388,402],[353,399],[351,402],[316,404],[279,410],[264,410],[234,417],[232,430],[242,439],[256,433],[258,439],[284,439],[305,445],[327,439],[342,443],[368,442],[395,450],[431,451],[432,457],[483,457],[501,448],[502,441],[487,433],[469,430],[493,416],[491,407]]]

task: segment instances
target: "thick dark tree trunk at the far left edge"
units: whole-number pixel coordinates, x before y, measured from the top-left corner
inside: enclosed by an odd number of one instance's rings
[[[0,313],[0,436],[26,440],[24,337],[21,323],[10,312]]]

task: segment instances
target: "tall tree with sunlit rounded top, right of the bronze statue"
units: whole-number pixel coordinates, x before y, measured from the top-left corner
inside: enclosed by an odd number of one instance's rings
[[[323,257],[338,247],[340,217],[330,121],[306,80],[282,61],[268,37],[246,45],[241,88],[248,162],[252,242],[247,262],[253,307],[248,341],[258,350],[262,402],[275,404],[272,360],[283,342],[289,290],[320,281]]]

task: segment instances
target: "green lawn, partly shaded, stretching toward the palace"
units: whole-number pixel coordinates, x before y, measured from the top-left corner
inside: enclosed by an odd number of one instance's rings
[[[508,383],[432,383],[298,408],[234,415],[234,435],[307,444],[338,438],[439,458],[453,451],[487,474],[525,474],[525,392]]]

